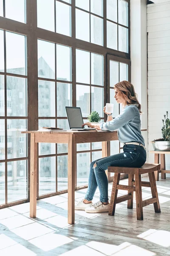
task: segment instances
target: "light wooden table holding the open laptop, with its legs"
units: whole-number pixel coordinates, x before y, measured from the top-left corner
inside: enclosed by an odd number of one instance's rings
[[[141,131],[146,131],[142,129]],[[78,143],[102,142],[102,157],[107,157],[107,141],[118,140],[117,131],[23,131],[31,134],[30,151],[30,217],[36,217],[37,143],[68,144],[68,224],[74,224],[74,191],[77,172]]]

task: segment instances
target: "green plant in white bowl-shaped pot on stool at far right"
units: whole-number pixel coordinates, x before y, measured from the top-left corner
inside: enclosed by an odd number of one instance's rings
[[[154,150],[158,151],[170,151],[170,119],[168,118],[168,111],[162,119],[163,126],[161,128],[162,137],[161,139],[151,141]]]

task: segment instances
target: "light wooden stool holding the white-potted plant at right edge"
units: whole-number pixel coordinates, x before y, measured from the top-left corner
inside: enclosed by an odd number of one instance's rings
[[[155,180],[159,180],[159,173],[161,172],[161,179],[166,179],[166,173],[170,171],[165,170],[165,154],[170,154],[170,151],[150,151],[150,153],[155,154],[154,163],[159,163],[159,154],[161,160],[161,170],[155,172]]]

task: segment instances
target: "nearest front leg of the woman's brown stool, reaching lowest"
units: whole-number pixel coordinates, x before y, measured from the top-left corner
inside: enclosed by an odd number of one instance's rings
[[[136,214],[137,220],[143,220],[143,206],[142,206],[142,186],[141,175],[135,174],[135,189],[136,189]]]

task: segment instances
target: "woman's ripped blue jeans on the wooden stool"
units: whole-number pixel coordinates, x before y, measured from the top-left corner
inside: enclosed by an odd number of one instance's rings
[[[88,178],[88,191],[85,199],[91,201],[96,192],[97,186],[100,191],[100,201],[108,202],[108,178],[105,170],[108,166],[141,167],[146,161],[146,151],[142,146],[128,144],[124,145],[123,153],[110,157],[103,157],[90,164],[90,174]],[[94,164],[96,163],[96,167]]]

